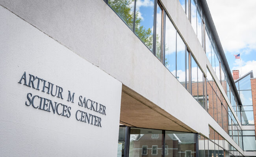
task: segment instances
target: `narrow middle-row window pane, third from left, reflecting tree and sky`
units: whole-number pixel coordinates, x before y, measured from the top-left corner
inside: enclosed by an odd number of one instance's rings
[[[163,9],[157,4],[156,8],[156,57],[161,60],[161,32]]]

